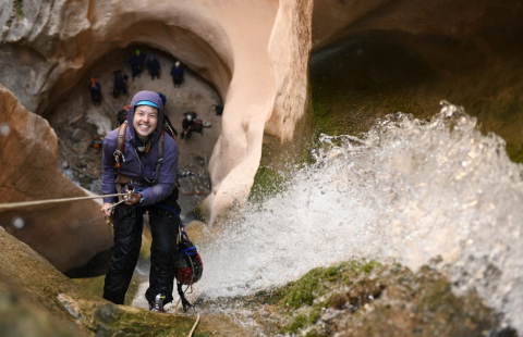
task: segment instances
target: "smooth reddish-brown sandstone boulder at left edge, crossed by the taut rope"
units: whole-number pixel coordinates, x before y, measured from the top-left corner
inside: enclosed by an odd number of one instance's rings
[[[86,196],[57,168],[57,137],[47,121],[26,111],[1,85],[0,101],[0,124],[11,127],[8,137],[0,136],[0,203]],[[112,246],[96,201],[0,211],[0,223],[61,272],[83,266]]]

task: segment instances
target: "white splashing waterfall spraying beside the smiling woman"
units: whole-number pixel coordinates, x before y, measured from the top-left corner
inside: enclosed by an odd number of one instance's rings
[[[523,166],[500,137],[442,102],[428,122],[398,113],[362,139],[323,135],[314,155],[199,247],[198,296],[246,295],[352,258],[415,270],[441,257],[455,291],[476,288],[523,330]]]

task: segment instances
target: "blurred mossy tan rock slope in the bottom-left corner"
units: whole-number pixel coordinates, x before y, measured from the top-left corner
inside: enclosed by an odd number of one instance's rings
[[[195,316],[158,314],[115,305],[58,272],[31,247],[0,227],[0,334],[7,336],[187,336]],[[219,329],[203,319],[194,336],[231,336],[232,322]],[[241,334],[241,333],[239,333]],[[247,334],[243,332],[243,334]],[[34,336],[36,336],[34,335]]]

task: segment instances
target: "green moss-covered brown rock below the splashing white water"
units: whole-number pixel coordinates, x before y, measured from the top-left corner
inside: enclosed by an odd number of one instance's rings
[[[486,336],[499,323],[474,291],[454,295],[429,266],[413,273],[372,260],[312,270],[245,302],[263,308],[257,321],[269,335]]]

